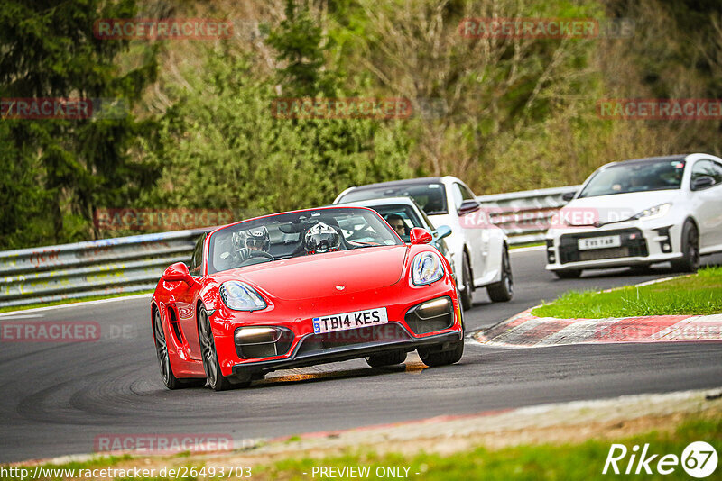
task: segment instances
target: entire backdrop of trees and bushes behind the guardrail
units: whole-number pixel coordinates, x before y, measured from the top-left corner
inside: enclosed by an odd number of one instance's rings
[[[97,207],[242,218],[401,177],[456,175],[481,195],[579,183],[610,160],[720,154],[719,121],[604,120],[596,103],[719,98],[721,10],[712,0],[6,0],[0,97],[120,98],[128,115],[0,119],[0,250],[92,239]],[[248,15],[260,26],[253,41],[93,36],[96,19],[143,15]],[[622,39],[459,35],[461,19],[494,15],[625,17],[636,28]],[[406,97],[448,110],[282,119],[277,97]]]

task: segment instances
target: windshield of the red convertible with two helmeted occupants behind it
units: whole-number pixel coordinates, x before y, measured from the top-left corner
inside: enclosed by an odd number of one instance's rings
[[[403,245],[378,213],[356,207],[279,213],[216,231],[208,274],[338,250]]]

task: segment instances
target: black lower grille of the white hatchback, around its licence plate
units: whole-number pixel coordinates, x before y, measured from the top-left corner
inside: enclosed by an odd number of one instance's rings
[[[579,239],[610,235],[620,236],[622,246],[607,249],[579,250]],[[584,260],[647,257],[648,255],[647,241],[644,240],[642,231],[639,229],[564,234],[560,238],[559,257],[561,264]]]

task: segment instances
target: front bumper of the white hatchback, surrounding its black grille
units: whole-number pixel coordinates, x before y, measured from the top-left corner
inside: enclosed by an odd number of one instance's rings
[[[553,229],[547,232],[547,270],[617,268],[650,265],[682,257],[679,225],[621,222],[601,228]],[[579,239],[620,236],[621,246],[579,250]]]

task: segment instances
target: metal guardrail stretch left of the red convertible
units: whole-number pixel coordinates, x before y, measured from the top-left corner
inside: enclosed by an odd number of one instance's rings
[[[153,289],[209,229],[0,252],[0,307]]]

